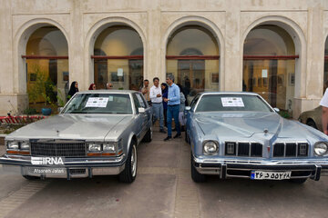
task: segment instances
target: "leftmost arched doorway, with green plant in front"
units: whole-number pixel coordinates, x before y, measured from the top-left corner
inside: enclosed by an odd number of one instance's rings
[[[46,101],[64,104],[69,89],[68,46],[65,35],[54,25],[42,26],[26,44],[26,88],[29,104],[39,109]],[[44,85],[45,94],[39,94]]]

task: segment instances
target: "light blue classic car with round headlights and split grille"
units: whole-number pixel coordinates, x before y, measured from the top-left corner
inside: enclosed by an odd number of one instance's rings
[[[202,93],[186,107],[191,177],[290,180],[328,175],[328,137],[253,93]]]

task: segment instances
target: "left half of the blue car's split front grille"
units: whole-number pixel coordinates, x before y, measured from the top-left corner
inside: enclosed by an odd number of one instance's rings
[[[226,142],[225,155],[261,157],[263,145],[259,143]]]

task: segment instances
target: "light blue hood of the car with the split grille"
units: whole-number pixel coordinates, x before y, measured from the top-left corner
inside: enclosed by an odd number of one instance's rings
[[[304,137],[304,131],[312,131],[296,121],[283,119],[275,113],[204,113],[195,114],[195,120],[204,134],[220,137],[249,138],[254,134],[270,134],[272,137]]]

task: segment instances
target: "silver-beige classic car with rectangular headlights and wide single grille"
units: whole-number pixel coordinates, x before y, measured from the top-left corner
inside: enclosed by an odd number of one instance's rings
[[[132,183],[142,139],[152,139],[151,108],[142,94],[79,92],[60,114],[7,135],[0,163],[18,166],[27,179],[118,174]]]

